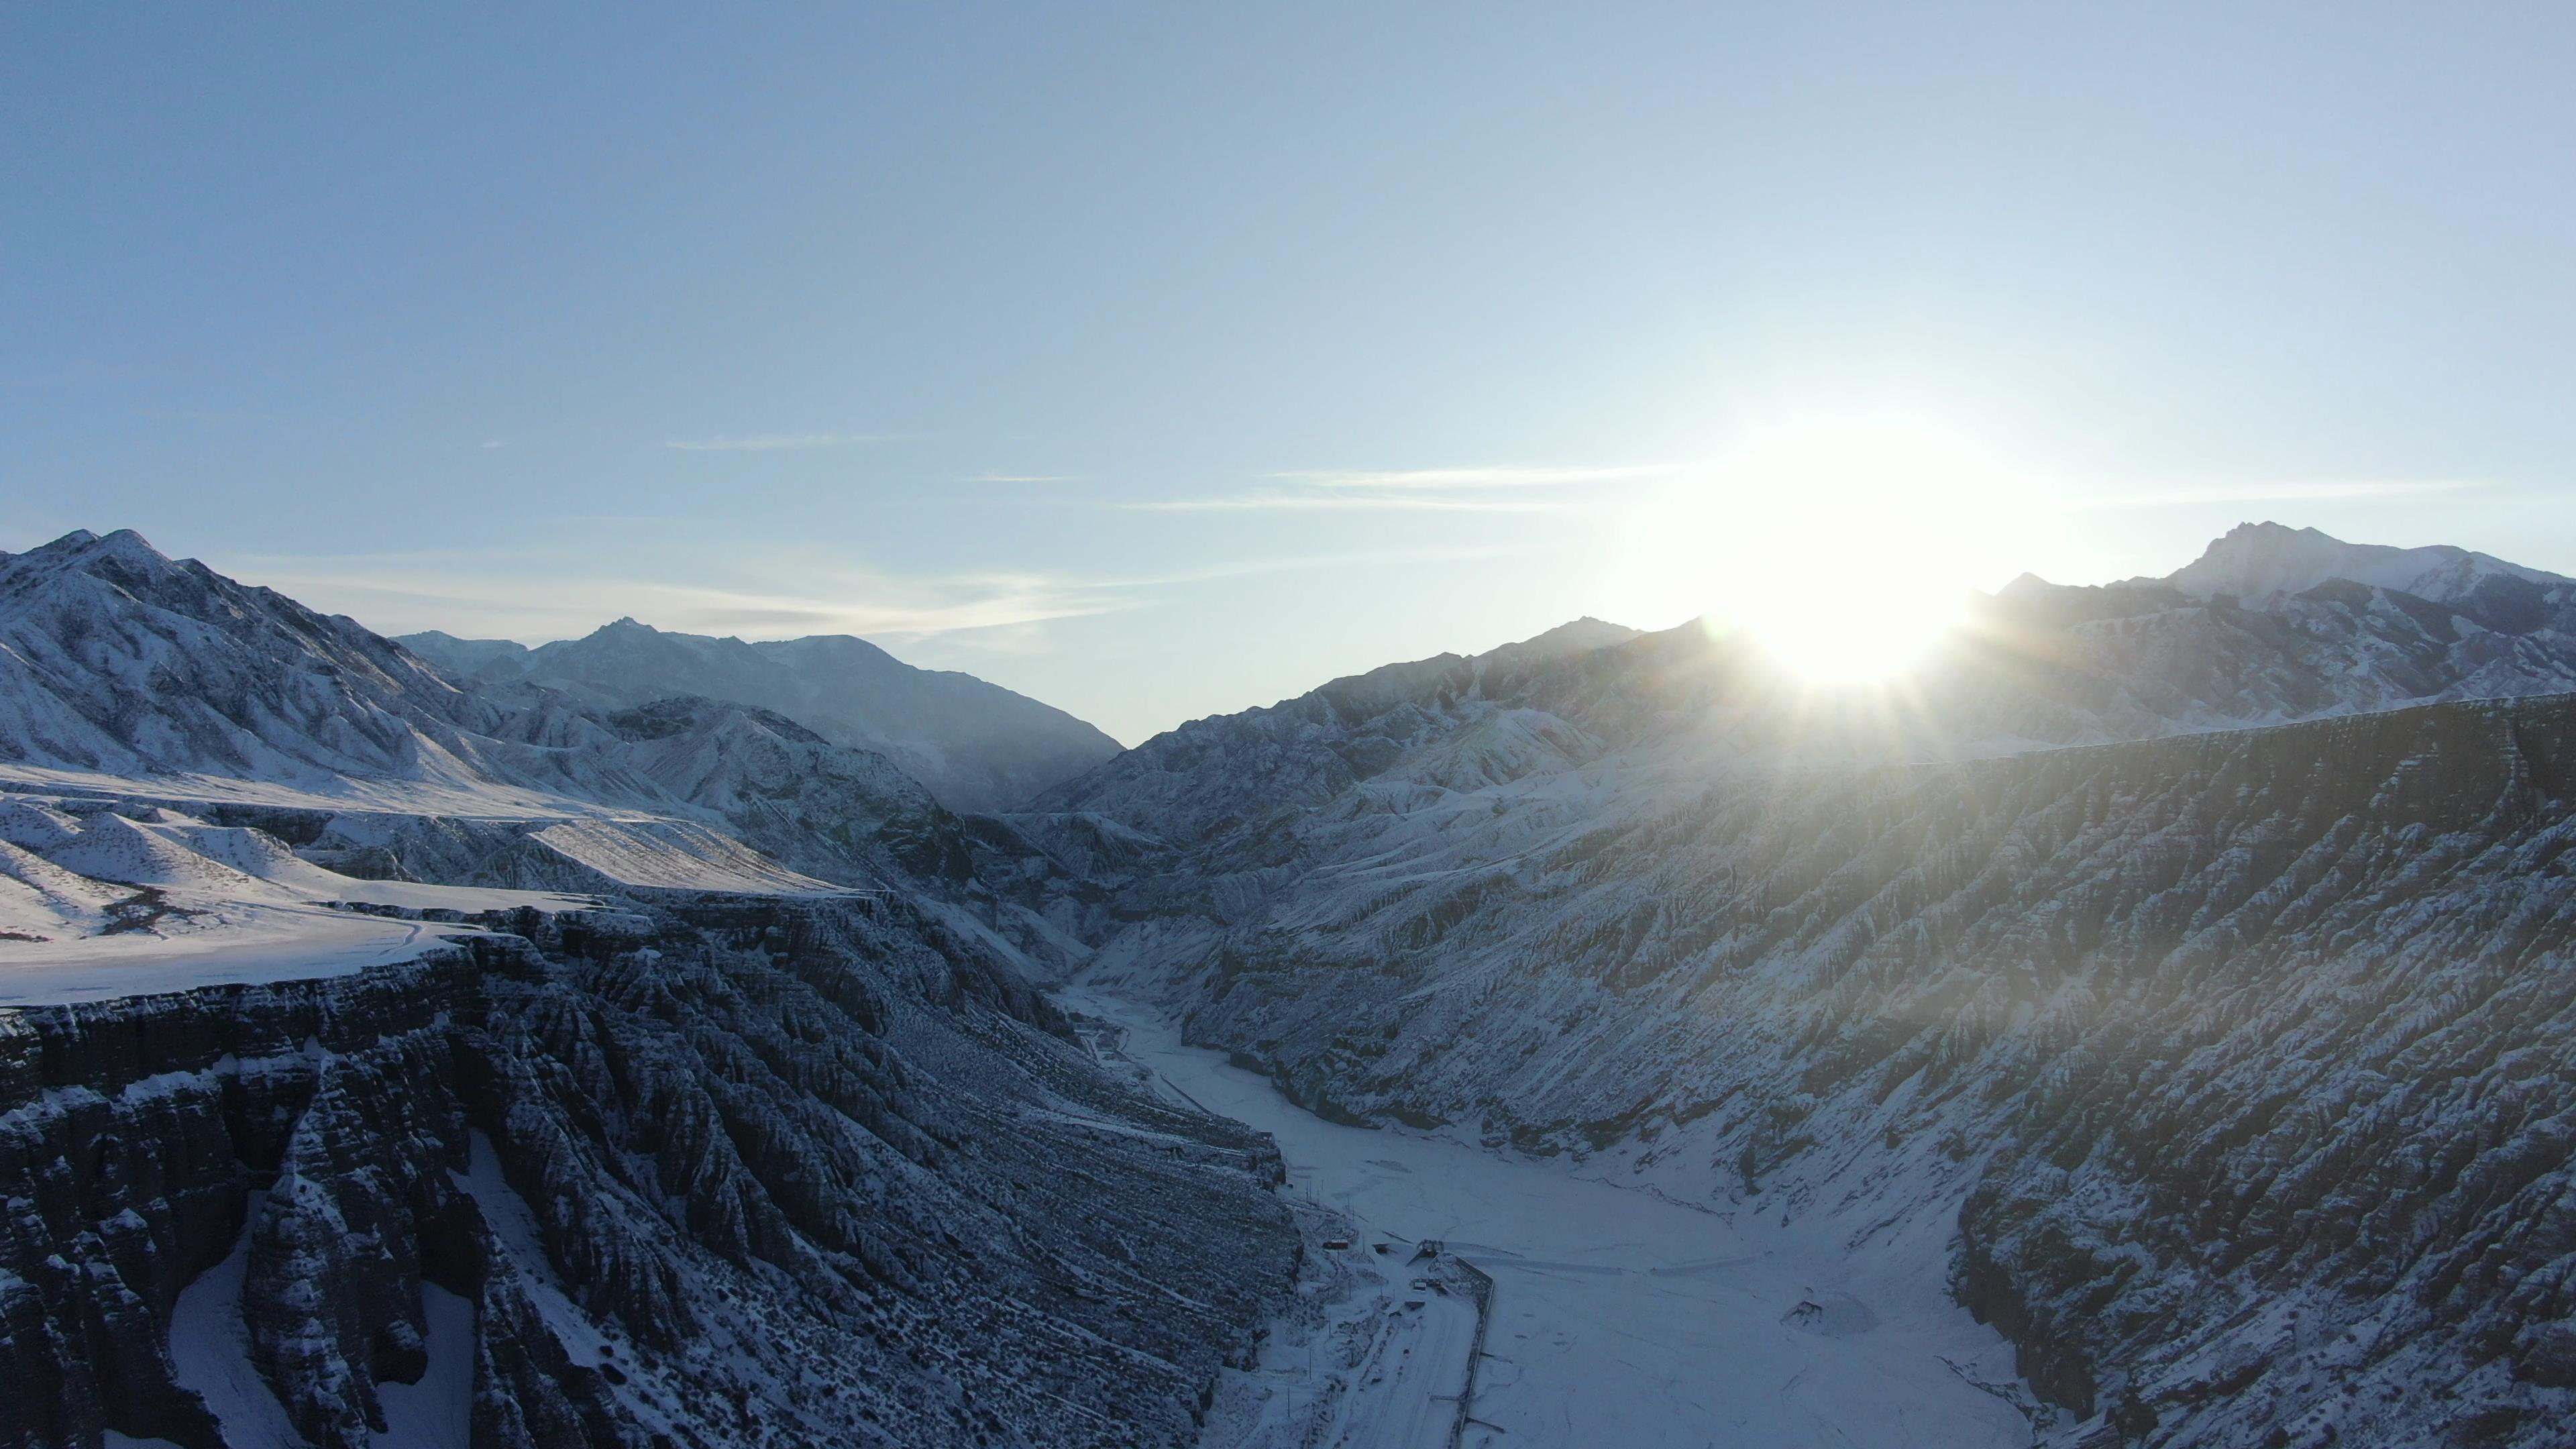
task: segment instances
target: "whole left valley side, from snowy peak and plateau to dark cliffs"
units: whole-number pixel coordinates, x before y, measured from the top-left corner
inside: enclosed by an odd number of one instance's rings
[[[1023,944],[783,714],[0,557],[0,1446],[1190,1444],[1278,1150]]]

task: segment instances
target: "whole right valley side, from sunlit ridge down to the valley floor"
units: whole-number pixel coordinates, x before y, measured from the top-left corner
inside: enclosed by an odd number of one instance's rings
[[[1698,627],[1391,665],[976,848],[1327,1116],[1953,1222],[2087,1444],[2558,1444],[2576,614],[2463,557],[2027,580],[1888,688]]]

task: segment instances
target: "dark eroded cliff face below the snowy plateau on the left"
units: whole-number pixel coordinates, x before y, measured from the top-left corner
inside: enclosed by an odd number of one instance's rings
[[[1267,1140],[899,900],[510,923],[0,1013],[0,1444],[1180,1444],[1285,1284]]]

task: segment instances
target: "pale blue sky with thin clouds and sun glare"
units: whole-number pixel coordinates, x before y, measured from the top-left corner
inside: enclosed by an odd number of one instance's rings
[[[2576,572],[2568,75],[2501,3],[13,5],[0,549],[1126,743],[2251,518]]]

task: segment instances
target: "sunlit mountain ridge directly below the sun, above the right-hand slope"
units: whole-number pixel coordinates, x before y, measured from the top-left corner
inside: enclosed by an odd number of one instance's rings
[[[2285,531],[2239,529],[2210,557],[2275,534]],[[2460,583],[2486,567],[2458,549],[2406,552],[2437,554],[2450,562],[2427,565],[2416,583]],[[2370,565],[2380,552],[2352,557]],[[1610,758],[1687,771],[1816,755],[1978,758],[2576,691],[2576,583],[2496,570],[2450,588],[2447,601],[2344,578],[2244,601],[2174,583],[2061,588],[2025,575],[1973,601],[1927,660],[1878,688],[1808,686],[1757,639],[1703,624],[1633,634],[1579,621],[1486,655],[1386,665],[1267,709],[1195,719],[1056,786],[1036,810],[1203,841],[1350,792],[1391,802]]]

